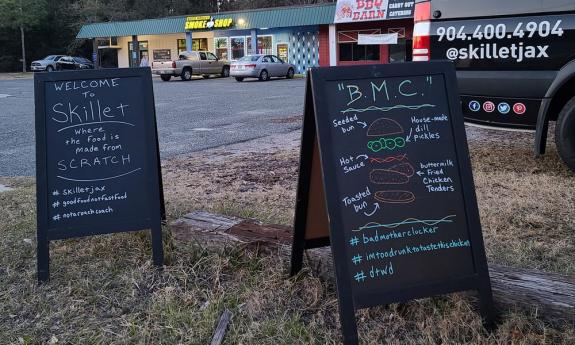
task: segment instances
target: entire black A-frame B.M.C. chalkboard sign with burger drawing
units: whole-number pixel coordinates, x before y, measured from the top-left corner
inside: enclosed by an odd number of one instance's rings
[[[492,294],[451,63],[308,73],[291,273],[331,244],[342,331],[355,310],[477,290]]]

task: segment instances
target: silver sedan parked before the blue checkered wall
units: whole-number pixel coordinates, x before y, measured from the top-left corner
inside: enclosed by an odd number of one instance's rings
[[[275,55],[246,55],[232,63],[230,75],[237,81],[244,78],[258,78],[261,81],[271,77],[293,78],[295,66]]]

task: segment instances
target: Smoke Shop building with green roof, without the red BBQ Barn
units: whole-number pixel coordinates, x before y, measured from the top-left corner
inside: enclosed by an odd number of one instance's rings
[[[102,67],[138,66],[178,59],[185,50],[207,50],[222,59],[274,54],[296,73],[319,66],[319,30],[333,22],[335,6],[279,7],[242,12],[84,25],[77,35],[92,39]],[[252,42],[257,42],[252,47]],[[135,48],[135,49],[134,49]]]

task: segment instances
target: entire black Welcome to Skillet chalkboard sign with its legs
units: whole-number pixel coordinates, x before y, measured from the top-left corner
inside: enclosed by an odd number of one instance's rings
[[[150,229],[163,262],[161,174],[149,68],[34,76],[38,279],[50,240]]]

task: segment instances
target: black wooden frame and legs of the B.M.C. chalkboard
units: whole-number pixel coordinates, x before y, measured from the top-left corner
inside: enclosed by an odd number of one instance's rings
[[[302,132],[302,146],[300,158],[300,175],[298,180],[298,190],[296,197],[296,212],[294,220],[294,239],[291,258],[291,275],[301,270],[303,262],[303,252],[308,248],[321,247],[331,243],[334,258],[334,269],[337,281],[337,292],[339,297],[339,308],[341,316],[342,333],[345,344],[357,344],[357,324],[355,320],[355,310],[362,308],[385,305],[389,303],[406,302],[411,299],[429,297],[440,294],[453,293],[457,291],[476,290],[479,294],[480,311],[487,325],[493,325],[495,312],[493,309],[493,297],[487,261],[485,258],[485,247],[481,235],[481,224],[479,210],[475,195],[475,185],[469,160],[469,150],[463,116],[461,113],[459,93],[457,89],[457,79],[455,69],[450,62],[432,63],[402,63],[393,65],[393,73],[389,73],[386,67],[385,74],[381,65],[364,65],[353,67],[323,67],[313,68],[308,72],[306,84],[306,98],[304,108],[304,123]],[[330,169],[328,162],[334,160],[332,153],[326,146],[322,147],[321,142],[331,142],[332,135],[327,125],[322,126],[317,119],[328,118],[328,102],[326,96],[326,83],[332,81],[346,81],[368,78],[393,78],[410,77],[421,75],[442,75],[445,80],[447,102],[450,111],[450,123],[452,126],[453,140],[455,143],[455,153],[459,162],[459,172],[461,184],[465,186],[462,190],[464,209],[467,218],[467,229],[471,241],[471,252],[475,273],[456,279],[446,281],[433,281],[417,286],[406,287],[400,291],[388,293],[385,296],[379,294],[362,294],[353,296],[351,275],[348,272],[346,262],[346,242],[342,229],[342,214],[330,212],[336,210],[339,203],[339,193],[335,173]],[[329,237],[306,239],[308,228],[307,217],[310,205],[308,204],[310,192],[310,177],[313,164],[313,147],[317,142],[319,146],[319,156],[321,174],[323,178],[323,190],[329,222]],[[314,230],[317,232],[317,229]],[[339,263],[339,264],[338,264]],[[355,300],[354,300],[355,297]]]

